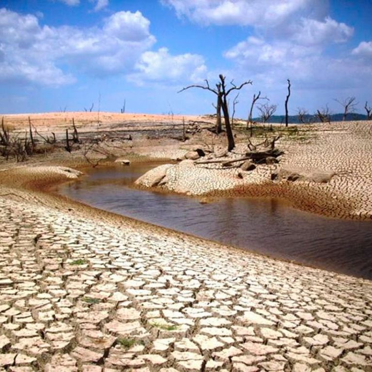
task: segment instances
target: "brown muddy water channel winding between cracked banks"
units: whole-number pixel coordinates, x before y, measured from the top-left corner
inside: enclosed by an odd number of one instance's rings
[[[201,204],[196,198],[129,187],[152,167],[92,169],[58,191],[100,209],[223,244],[372,279],[372,223],[320,217],[275,199],[221,198]]]

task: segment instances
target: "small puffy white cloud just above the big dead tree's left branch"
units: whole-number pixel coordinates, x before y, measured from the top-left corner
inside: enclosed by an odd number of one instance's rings
[[[130,80],[138,83],[143,80],[195,82],[202,80],[207,71],[202,56],[189,53],[173,56],[167,48],[143,53],[136,69],[139,72],[131,75]]]

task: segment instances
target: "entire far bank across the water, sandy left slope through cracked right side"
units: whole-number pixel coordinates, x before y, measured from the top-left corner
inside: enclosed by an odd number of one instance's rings
[[[23,136],[28,128],[28,117],[5,115],[4,122]],[[276,149],[283,152],[277,159],[279,163],[256,164],[248,171],[240,169],[242,162],[232,167],[203,163],[205,158],[213,160],[213,156],[224,154],[226,148],[226,135],[217,136],[210,131],[214,127],[214,119],[210,116],[66,112],[33,114],[30,122],[35,128],[35,140],[50,140],[53,132],[59,141],[54,151],[54,144],[38,142],[39,155],[27,160],[31,164],[63,164],[81,169],[112,164],[117,158],[171,159],[173,165],[163,172],[164,178],[156,186],[157,191],[206,198],[279,198],[297,209],[327,217],[372,220],[371,121],[290,125],[288,128],[279,124],[271,128],[257,125],[252,138],[247,137],[246,123],[236,121],[237,146],[227,154],[226,160],[241,157],[251,145],[265,139],[270,142],[276,137],[279,138],[275,142]],[[71,152],[66,152],[65,134],[66,129],[70,129],[70,133],[73,131],[72,122],[80,142],[70,140]],[[202,150],[206,156],[195,161],[180,161],[195,149]],[[216,160],[222,161],[220,157]],[[175,161],[178,164],[174,164]],[[9,165],[0,159],[0,169],[9,166],[18,167],[19,163]],[[296,176],[291,181],[288,177],[281,178],[283,170],[287,175]],[[273,174],[279,174],[274,181]],[[313,182],[313,177],[304,178],[304,174],[315,174],[318,179],[320,174],[322,182]],[[149,184],[145,182],[141,186]]]

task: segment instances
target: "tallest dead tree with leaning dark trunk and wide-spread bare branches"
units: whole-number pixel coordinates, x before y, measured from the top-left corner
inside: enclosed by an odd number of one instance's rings
[[[205,89],[217,95],[217,106],[218,106],[218,101],[220,100],[221,109],[222,109],[223,116],[225,119],[225,127],[226,127],[226,134],[227,134],[227,140],[228,140],[227,149],[228,151],[231,151],[235,147],[235,141],[234,141],[233,131],[232,131],[231,124],[230,124],[227,96],[234,90],[238,91],[242,89],[245,85],[252,84],[252,81],[251,80],[245,81],[239,86],[236,86],[233,83],[233,81],[231,81],[230,84],[232,85],[232,87],[230,89],[226,89],[225,77],[222,74],[219,75],[219,80],[220,81],[216,84],[217,89],[212,89],[209,86],[208,80],[205,80],[206,85],[189,85],[188,87],[181,89],[179,92],[183,92],[189,88],[201,88],[201,89]],[[219,88],[218,88],[218,85],[220,86]]]

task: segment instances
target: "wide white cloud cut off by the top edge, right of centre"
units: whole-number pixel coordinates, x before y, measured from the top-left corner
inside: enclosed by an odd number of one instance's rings
[[[161,0],[200,24],[273,27],[311,8],[324,8],[321,0]]]

